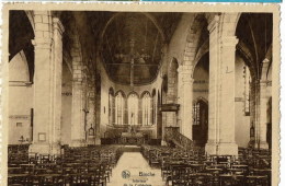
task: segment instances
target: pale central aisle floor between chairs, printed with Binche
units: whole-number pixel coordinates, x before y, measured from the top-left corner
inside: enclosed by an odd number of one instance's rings
[[[129,173],[123,176],[122,173]],[[147,176],[139,176],[142,172]],[[124,178],[125,177],[125,178]],[[160,168],[153,168],[140,152],[124,152],[117,165],[113,168],[112,177],[107,186],[164,186]]]

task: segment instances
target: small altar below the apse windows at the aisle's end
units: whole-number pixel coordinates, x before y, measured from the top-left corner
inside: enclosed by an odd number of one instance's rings
[[[144,144],[144,133],[141,132],[122,132],[121,141],[123,144]]]

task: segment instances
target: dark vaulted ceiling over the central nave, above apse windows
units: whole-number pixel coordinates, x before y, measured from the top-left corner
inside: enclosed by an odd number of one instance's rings
[[[87,12],[87,16],[110,78],[122,84],[130,84],[130,79],[147,84],[157,77],[163,46],[181,14]]]

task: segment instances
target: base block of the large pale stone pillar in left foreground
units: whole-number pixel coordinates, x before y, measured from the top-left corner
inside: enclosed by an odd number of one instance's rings
[[[50,154],[50,155],[59,155],[60,154],[60,146],[58,143],[48,144],[48,143],[33,143],[29,148],[30,153],[37,154]]]

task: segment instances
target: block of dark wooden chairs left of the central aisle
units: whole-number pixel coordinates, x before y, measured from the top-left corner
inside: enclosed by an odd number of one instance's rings
[[[10,151],[11,152],[11,151]],[[22,154],[23,152],[21,152]],[[26,152],[27,153],[27,152]],[[25,161],[11,155],[9,185],[106,185],[121,147],[62,147],[61,154],[30,154]]]

